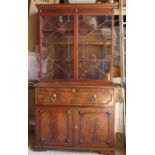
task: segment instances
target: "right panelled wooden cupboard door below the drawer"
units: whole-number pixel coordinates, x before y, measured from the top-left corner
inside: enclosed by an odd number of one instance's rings
[[[77,108],[74,114],[76,147],[113,147],[114,114],[112,108]]]

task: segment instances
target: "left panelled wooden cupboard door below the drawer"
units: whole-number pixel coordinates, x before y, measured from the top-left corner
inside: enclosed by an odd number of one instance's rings
[[[72,146],[72,110],[36,107],[36,144]]]

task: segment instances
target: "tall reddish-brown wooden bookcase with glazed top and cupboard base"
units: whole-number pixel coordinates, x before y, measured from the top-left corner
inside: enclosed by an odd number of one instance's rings
[[[114,155],[115,3],[38,4],[35,149]]]

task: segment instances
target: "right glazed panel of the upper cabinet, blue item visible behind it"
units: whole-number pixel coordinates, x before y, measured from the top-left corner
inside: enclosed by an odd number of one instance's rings
[[[111,16],[79,17],[79,79],[110,80]]]

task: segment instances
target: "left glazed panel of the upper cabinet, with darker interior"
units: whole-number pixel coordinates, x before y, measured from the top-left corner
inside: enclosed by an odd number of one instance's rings
[[[73,79],[73,17],[43,16],[42,79]]]

